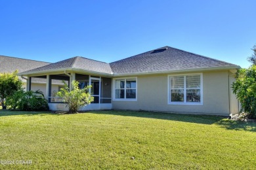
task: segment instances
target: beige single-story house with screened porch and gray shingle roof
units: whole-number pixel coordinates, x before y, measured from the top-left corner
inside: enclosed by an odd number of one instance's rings
[[[170,46],[150,50],[112,63],[74,57],[19,73],[43,78],[51,110],[66,110],[53,95],[53,81],[77,80],[83,88],[91,84],[95,101],[81,110],[128,109],[218,114],[239,111],[231,85],[240,67]]]

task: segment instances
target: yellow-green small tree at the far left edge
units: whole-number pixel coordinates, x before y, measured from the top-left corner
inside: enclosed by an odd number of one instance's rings
[[[18,71],[13,73],[0,73],[0,102],[5,108],[4,100],[14,92],[22,89],[22,81],[17,76]]]

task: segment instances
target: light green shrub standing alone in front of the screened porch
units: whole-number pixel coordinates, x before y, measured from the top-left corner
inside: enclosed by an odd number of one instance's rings
[[[64,88],[61,88],[56,95],[63,97],[63,102],[66,103],[68,112],[75,113],[78,109],[93,101],[93,97],[89,93],[90,88],[91,86],[87,86],[80,89],[79,82],[74,80],[72,81],[72,90],[69,90],[68,85],[65,83]]]

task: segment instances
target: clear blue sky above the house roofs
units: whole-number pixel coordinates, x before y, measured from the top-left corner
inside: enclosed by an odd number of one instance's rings
[[[0,0],[0,55],[112,62],[172,46],[249,67],[256,1]]]

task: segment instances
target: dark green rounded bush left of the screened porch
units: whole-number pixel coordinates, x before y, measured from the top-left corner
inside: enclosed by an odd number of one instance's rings
[[[43,92],[24,92],[19,90],[14,92],[6,100],[7,109],[26,110],[26,111],[45,111],[49,110],[48,101],[45,99]]]

